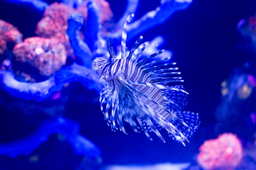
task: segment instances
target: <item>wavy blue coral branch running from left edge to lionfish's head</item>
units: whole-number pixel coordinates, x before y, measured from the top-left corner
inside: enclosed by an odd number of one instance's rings
[[[98,75],[76,63],[71,66],[63,67],[52,75],[48,80],[39,83],[25,83],[15,80],[11,71],[0,71],[0,87],[10,95],[25,100],[42,101],[53,96],[56,91],[69,82],[81,82],[85,87],[95,90],[100,94],[104,87],[103,81],[99,80]]]

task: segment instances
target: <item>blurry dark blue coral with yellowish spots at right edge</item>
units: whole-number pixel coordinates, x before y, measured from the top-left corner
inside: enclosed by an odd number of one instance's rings
[[[215,111],[215,116],[219,123],[225,123],[215,127],[217,133],[228,130],[240,137],[254,133],[253,123],[241,120],[256,111],[255,82],[255,73],[252,70],[240,68],[235,69],[230,77],[221,83],[222,101]]]

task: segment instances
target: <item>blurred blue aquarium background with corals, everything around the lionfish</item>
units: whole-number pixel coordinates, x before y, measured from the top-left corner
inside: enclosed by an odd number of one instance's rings
[[[165,49],[189,93],[185,110],[199,114],[186,146],[104,120],[91,64],[107,38],[118,54],[130,13],[139,22],[128,49],[139,36]],[[0,0],[0,170],[256,169],[255,14],[253,0]]]

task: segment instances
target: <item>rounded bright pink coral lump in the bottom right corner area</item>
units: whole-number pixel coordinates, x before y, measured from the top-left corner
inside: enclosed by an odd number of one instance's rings
[[[242,145],[236,134],[223,133],[206,140],[199,148],[197,163],[204,170],[233,169],[242,159]]]

